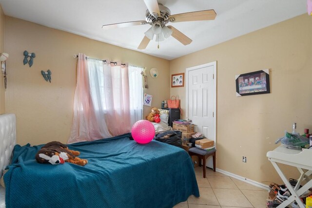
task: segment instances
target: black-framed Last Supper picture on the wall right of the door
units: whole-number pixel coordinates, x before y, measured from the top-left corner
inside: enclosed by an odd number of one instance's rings
[[[270,93],[269,69],[235,76],[236,96]]]

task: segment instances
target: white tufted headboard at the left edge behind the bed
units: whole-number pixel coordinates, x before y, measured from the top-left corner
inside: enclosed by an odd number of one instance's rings
[[[3,170],[11,162],[13,148],[16,145],[15,114],[0,115],[0,177]]]

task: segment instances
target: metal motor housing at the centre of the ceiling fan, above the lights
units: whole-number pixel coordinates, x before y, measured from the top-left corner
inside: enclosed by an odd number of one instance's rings
[[[155,25],[158,24],[160,26],[165,25],[169,22],[169,16],[171,15],[171,11],[168,7],[163,6],[162,4],[158,3],[160,15],[158,14],[151,14],[148,10],[145,13],[145,20],[151,24]]]

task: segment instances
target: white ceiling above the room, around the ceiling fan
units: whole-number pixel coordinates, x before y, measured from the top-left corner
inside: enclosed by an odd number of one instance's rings
[[[137,47],[149,25],[103,30],[102,25],[145,20],[143,0],[0,0],[5,15],[168,60],[291,19],[307,12],[306,0],[158,0],[171,14],[214,9],[215,20],[168,23],[191,38],[169,37]]]

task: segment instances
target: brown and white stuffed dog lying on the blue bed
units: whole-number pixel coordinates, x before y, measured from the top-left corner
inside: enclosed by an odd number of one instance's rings
[[[63,164],[64,162],[84,166],[88,160],[76,157],[79,151],[69,150],[67,145],[54,141],[49,142],[37,152],[36,160],[39,163],[51,163],[52,165]]]

